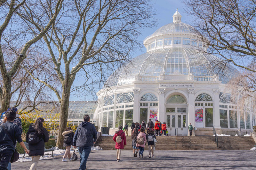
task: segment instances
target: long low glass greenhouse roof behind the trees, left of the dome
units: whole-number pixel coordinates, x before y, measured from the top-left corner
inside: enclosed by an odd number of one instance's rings
[[[60,113],[60,104],[59,102],[56,102],[57,104],[39,104],[36,108],[39,110],[42,110],[43,112],[39,111],[39,114],[42,115],[43,118],[46,117],[54,117],[54,115]],[[10,106],[12,107],[15,105],[14,101],[10,102]],[[26,106],[26,101],[23,101],[20,103],[20,105],[17,107],[18,110],[22,109]],[[94,112],[97,108],[97,102],[96,101],[69,101],[69,108],[68,108],[68,120],[72,121],[74,119],[84,119],[84,115],[90,115],[90,118],[93,119]],[[30,108],[27,108],[26,110],[29,110]],[[36,112],[35,110],[33,111]],[[49,115],[51,114],[51,115]]]

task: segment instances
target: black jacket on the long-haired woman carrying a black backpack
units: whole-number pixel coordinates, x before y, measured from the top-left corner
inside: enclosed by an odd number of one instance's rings
[[[31,132],[35,132],[35,128],[32,126],[34,123],[31,123],[28,132],[26,135],[26,142],[28,142],[28,134]],[[48,142],[49,136],[47,130],[44,128],[43,135],[38,136],[41,139],[37,144],[28,144],[29,154],[28,156],[43,156],[44,155],[44,143]]]

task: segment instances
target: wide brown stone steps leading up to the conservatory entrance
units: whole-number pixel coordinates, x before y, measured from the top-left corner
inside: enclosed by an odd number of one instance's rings
[[[255,141],[252,137],[219,136],[218,148],[213,136],[177,136],[175,147],[175,136],[157,136],[156,150],[249,150]],[[127,145],[125,150],[132,150],[131,136],[126,136]],[[103,150],[114,150],[115,142],[113,136],[100,136],[95,146]],[[146,144],[145,149],[148,149]]]

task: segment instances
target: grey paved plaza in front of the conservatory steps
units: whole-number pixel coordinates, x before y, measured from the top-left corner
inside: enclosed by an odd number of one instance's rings
[[[93,151],[87,162],[87,170],[122,170],[122,169],[256,169],[255,151],[156,151],[155,157],[134,158],[132,151],[122,151],[121,160],[117,162],[116,151]],[[77,170],[80,161],[61,162],[62,157],[40,160],[37,170]],[[79,157],[78,157],[79,159]],[[12,164],[12,170],[28,170],[31,162]]]

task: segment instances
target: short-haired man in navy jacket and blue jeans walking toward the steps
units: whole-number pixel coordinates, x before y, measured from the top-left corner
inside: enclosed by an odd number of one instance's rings
[[[73,138],[73,146],[77,147],[80,154],[79,170],[86,169],[86,162],[91,152],[91,148],[97,139],[97,131],[90,121],[89,115],[84,115],[84,122],[82,122],[76,129]]]

